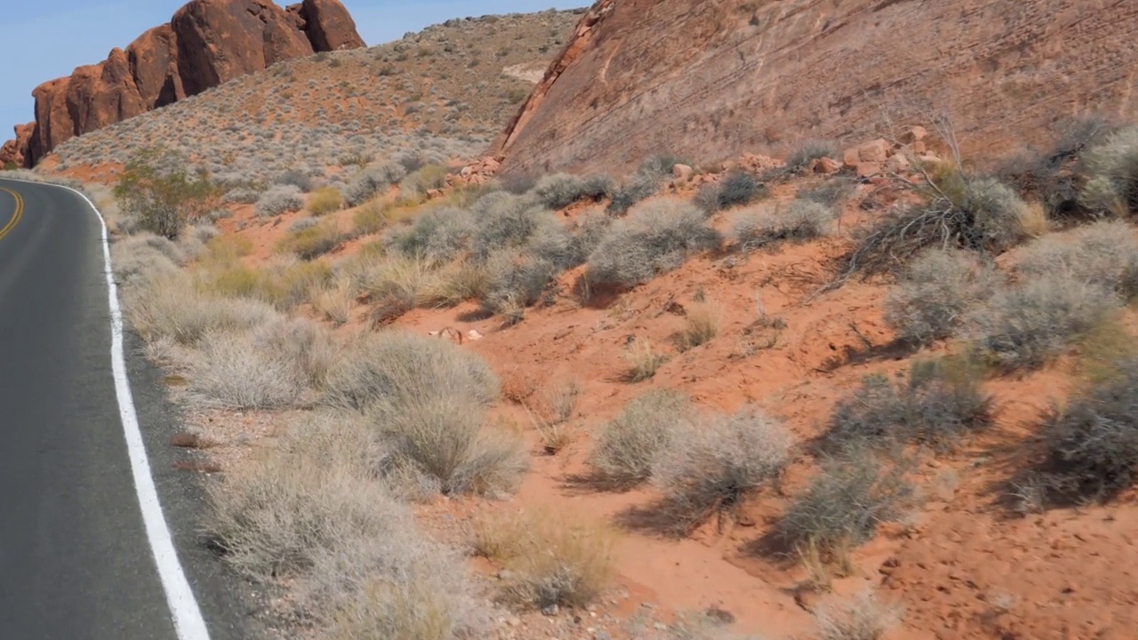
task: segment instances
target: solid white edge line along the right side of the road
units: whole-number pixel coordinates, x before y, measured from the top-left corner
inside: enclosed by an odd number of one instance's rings
[[[166,526],[166,517],[162,511],[162,503],[158,502],[158,490],[155,487],[154,477],[150,475],[150,461],[146,454],[146,444],[142,442],[142,432],[139,429],[138,412],[134,410],[134,399],[131,394],[130,378],[126,376],[126,358],[123,352],[123,314],[118,305],[118,287],[115,285],[115,274],[110,268],[110,241],[107,237],[107,221],[104,220],[99,208],[82,191],[52,184],[50,182],[24,181],[32,184],[44,184],[66,189],[79,197],[91,207],[99,219],[102,228],[102,260],[104,273],[107,277],[107,292],[110,305],[110,368],[115,378],[115,394],[118,399],[118,417],[123,424],[123,434],[126,437],[126,451],[130,454],[131,470],[134,474],[134,492],[139,498],[139,508],[142,511],[142,523],[146,526],[146,535],[150,542],[150,551],[154,553],[155,565],[158,567],[158,577],[162,580],[163,591],[166,592],[166,604],[174,621],[174,632],[179,640],[209,640],[209,630],[206,627],[205,618],[201,617],[201,609],[193,598],[193,590],[185,580],[185,572],[178,559],[178,551],[174,549],[174,539],[170,535]]]

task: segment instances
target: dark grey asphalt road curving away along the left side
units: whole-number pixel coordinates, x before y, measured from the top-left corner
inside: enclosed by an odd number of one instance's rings
[[[0,180],[0,640],[190,640],[135,491],[100,238],[80,196]],[[125,339],[151,477],[209,638],[254,637],[237,581],[197,540],[201,487],[173,468],[160,374]]]

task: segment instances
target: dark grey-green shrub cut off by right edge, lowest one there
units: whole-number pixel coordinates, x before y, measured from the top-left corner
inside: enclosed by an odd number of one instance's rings
[[[1110,499],[1138,484],[1138,360],[1048,416],[1044,471],[1056,498]]]

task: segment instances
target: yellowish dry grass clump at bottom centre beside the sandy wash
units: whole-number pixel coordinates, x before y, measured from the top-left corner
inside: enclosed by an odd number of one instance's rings
[[[585,607],[613,575],[616,532],[563,514],[533,511],[486,518],[473,532],[475,551],[505,569],[503,599],[533,608]]]

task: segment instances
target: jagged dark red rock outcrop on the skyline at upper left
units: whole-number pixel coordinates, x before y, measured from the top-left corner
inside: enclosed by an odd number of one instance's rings
[[[360,47],[364,42],[339,0],[304,0],[287,9],[271,0],[193,0],[125,51],[114,49],[97,65],[36,87],[35,123],[17,126],[0,161],[34,166],[74,136],[280,60]]]

